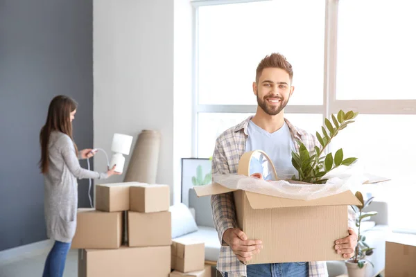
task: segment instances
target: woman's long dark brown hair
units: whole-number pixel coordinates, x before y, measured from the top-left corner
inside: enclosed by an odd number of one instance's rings
[[[55,96],[51,100],[48,109],[46,123],[40,130],[41,158],[40,170],[43,174],[49,170],[49,136],[52,131],[62,132],[72,138],[71,112],[78,107],[78,103],[68,96]],[[76,144],[73,143],[75,151],[78,152]]]

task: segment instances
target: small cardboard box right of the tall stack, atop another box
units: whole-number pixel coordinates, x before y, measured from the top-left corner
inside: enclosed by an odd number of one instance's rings
[[[172,269],[180,272],[204,269],[205,244],[177,238],[172,241]]]

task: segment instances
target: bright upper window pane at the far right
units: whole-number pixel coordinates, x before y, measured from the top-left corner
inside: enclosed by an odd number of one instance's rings
[[[415,26],[412,1],[339,1],[336,98],[416,99]]]

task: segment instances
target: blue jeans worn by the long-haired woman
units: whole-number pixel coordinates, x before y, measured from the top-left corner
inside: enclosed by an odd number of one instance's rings
[[[55,244],[46,258],[42,277],[62,277],[64,275],[69,248],[71,248],[71,243],[55,240]]]

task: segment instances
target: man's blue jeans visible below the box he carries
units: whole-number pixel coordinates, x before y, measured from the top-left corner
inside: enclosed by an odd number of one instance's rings
[[[248,265],[247,277],[308,277],[309,262]],[[228,274],[225,274],[228,277]]]

